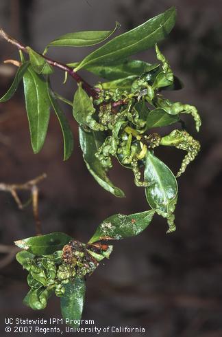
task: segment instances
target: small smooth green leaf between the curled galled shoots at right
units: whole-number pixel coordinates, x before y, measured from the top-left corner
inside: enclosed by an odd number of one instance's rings
[[[169,115],[169,113],[163,109],[153,109],[147,116],[147,129],[151,129],[153,127],[165,127],[178,122],[178,120],[180,120],[178,116]]]

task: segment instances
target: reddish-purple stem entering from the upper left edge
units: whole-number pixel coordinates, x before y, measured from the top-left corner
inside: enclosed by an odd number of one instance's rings
[[[23,45],[22,43],[18,42],[16,39],[13,39],[10,35],[8,35],[2,28],[0,28],[0,36],[7,41],[8,43],[11,43],[12,45],[14,45],[15,47],[18,48],[18,50],[21,50],[23,52],[25,52],[26,54],[29,54],[27,48],[25,47],[25,45]],[[42,56],[43,58],[45,58],[45,60],[47,61],[47,63],[49,63],[49,65],[52,65],[53,67],[57,67],[58,69],[63,70],[64,72],[67,72],[72,78],[74,78],[74,80],[77,83],[82,82],[82,87],[83,89],[87,92],[87,94],[89,94],[90,96],[92,96],[93,98],[97,98],[97,91],[91,86],[89,85],[86,80],[84,80],[81,76],[79,76],[79,74],[77,74],[77,72],[74,72],[74,70],[69,67],[68,65],[65,65],[63,63],[60,63],[58,61],[54,61],[51,58],[39,54],[40,56]]]

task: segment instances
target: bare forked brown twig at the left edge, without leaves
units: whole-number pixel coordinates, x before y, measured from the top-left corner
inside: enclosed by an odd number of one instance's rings
[[[17,191],[30,191],[32,195],[32,209],[34,214],[34,219],[36,222],[36,235],[41,235],[41,226],[40,226],[40,219],[38,216],[38,183],[45,179],[47,175],[43,173],[39,175],[33,180],[29,180],[25,182],[25,184],[0,184],[0,191],[5,191],[11,193],[14,201],[18,205],[19,209],[25,208],[27,203],[23,204],[21,199],[18,197]]]

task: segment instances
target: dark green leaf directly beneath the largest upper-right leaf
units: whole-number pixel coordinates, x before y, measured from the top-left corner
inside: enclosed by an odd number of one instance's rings
[[[76,65],[75,65],[76,66]],[[150,63],[139,60],[122,60],[121,63],[111,63],[109,65],[90,65],[84,67],[88,72],[106,78],[107,80],[117,80],[128,76],[140,76],[145,72],[159,67],[158,63],[151,65]]]

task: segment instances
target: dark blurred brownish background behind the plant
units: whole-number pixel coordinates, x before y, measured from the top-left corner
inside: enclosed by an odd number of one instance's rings
[[[188,116],[186,122],[190,132],[201,141],[201,153],[178,181],[177,231],[166,235],[166,221],[155,216],[141,235],[115,243],[110,261],[87,281],[83,318],[95,319],[99,327],[145,327],[146,336],[150,337],[219,337],[222,336],[221,0],[1,0],[0,20],[9,34],[41,52],[49,41],[66,32],[109,30],[115,21],[121,23],[123,32],[173,5],[177,8],[177,23],[161,48],[185,87],[169,97],[199,109],[203,120],[200,133],[195,133],[192,118]],[[16,58],[17,50],[2,41],[0,47],[0,94],[3,94],[15,69],[3,67],[2,61]],[[87,52],[86,48],[51,48],[49,55],[68,63],[79,61]],[[140,58],[155,61],[155,54],[149,50]],[[82,74],[91,83],[96,80],[86,72]],[[75,83],[69,79],[62,85],[63,74],[59,71],[53,76],[54,87],[72,99]],[[75,135],[75,151],[67,162],[62,162],[62,134],[53,113],[45,146],[34,155],[23,89],[9,102],[0,104],[0,182],[23,183],[47,173],[47,180],[40,185],[43,232],[62,231],[87,241],[106,217],[146,210],[147,203],[143,188],[134,186],[132,173],[119,165],[114,165],[111,177],[125,191],[125,199],[115,199],[97,185],[82,160],[71,109],[64,109]],[[160,149],[158,154],[174,172],[184,155],[177,149]],[[30,207],[18,210],[12,197],[1,192],[0,208],[2,244],[12,245],[16,239],[34,235]],[[60,317],[58,298],[51,298],[44,311],[33,312],[22,304],[26,292],[26,272],[16,261],[1,268],[1,336],[10,335],[4,331],[5,316]]]

